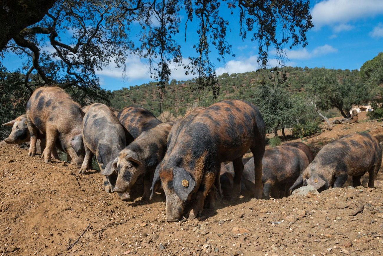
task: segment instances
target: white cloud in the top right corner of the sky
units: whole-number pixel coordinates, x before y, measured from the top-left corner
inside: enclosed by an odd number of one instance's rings
[[[311,10],[314,26],[345,24],[358,18],[383,13],[381,0],[324,0]]]

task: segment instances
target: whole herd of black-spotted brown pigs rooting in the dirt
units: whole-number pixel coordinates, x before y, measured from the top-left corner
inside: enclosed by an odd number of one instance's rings
[[[382,159],[378,141],[358,133],[325,145],[315,158],[302,142],[265,150],[262,116],[241,100],[197,107],[162,123],[142,107],[118,113],[100,103],[81,108],[61,88],[45,86],[33,92],[26,114],[3,125],[13,126],[5,142],[30,141],[29,156],[36,155],[40,139],[45,163],[59,159],[59,149],[85,173],[95,155],[105,191],[121,200],[131,200],[139,179],[142,200],[151,200],[161,187],[167,221],[195,218],[214,207],[217,197],[280,198],[302,185],[318,191],[342,187],[350,176],[356,187],[366,172],[373,187]],[[253,156],[242,158],[249,149]]]

